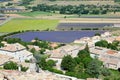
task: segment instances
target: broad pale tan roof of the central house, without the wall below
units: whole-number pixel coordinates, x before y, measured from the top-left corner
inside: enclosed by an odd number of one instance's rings
[[[48,52],[48,54],[50,54],[51,58],[59,58],[62,59],[64,56],[66,55],[71,55],[72,57],[76,57],[79,50],[82,50],[85,48],[84,46],[79,46],[79,45],[66,45],[66,46],[62,46],[58,49],[52,50],[50,52]]]

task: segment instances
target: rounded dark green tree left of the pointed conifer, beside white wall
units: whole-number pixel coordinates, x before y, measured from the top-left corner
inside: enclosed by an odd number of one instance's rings
[[[74,71],[76,65],[77,63],[70,55],[64,56],[61,62],[62,69],[67,71]]]

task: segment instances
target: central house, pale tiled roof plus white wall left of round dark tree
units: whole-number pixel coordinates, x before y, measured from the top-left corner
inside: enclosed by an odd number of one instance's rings
[[[50,57],[48,60],[52,59],[56,61],[56,68],[61,70],[61,61],[64,56],[71,55],[72,57],[76,57],[79,50],[82,50],[85,48],[85,45],[79,46],[79,45],[66,45],[62,46],[58,49],[48,51],[46,54],[49,54]]]

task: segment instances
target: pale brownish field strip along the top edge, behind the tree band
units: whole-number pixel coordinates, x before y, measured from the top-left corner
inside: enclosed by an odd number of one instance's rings
[[[116,3],[114,3],[114,1],[47,1],[47,0],[35,0],[33,1],[33,5],[37,5],[37,4],[48,4],[48,5],[80,5],[80,4],[85,4],[85,5],[115,5]]]

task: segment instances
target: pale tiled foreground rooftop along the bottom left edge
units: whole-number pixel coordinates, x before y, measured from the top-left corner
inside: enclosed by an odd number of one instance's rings
[[[27,73],[16,70],[0,70],[0,80],[83,80],[49,71]]]

